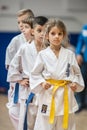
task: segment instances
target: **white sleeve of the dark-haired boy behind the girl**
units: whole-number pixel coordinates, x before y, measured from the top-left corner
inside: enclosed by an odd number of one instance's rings
[[[17,82],[18,80],[22,80],[22,55],[22,49],[20,48],[10,63],[7,82]]]

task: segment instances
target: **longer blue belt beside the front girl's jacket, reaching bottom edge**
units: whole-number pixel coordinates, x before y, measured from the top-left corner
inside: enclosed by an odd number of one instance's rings
[[[24,128],[23,128],[23,130],[27,130],[27,111],[28,111],[28,105],[29,105],[29,103],[32,102],[32,99],[33,99],[34,95],[35,94],[31,92],[30,95],[28,96],[27,101],[26,101],[26,113],[25,113]]]

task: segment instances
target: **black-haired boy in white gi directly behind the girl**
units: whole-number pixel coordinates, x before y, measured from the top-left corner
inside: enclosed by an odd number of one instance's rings
[[[19,83],[19,125],[18,130],[23,130],[24,117],[25,117],[25,105],[26,99],[30,93],[29,87],[29,77],[30,71],[33,68],[34,62],[37,57],[37,53],[44,49],[43,41],[43,29],[47,22],[47,18],[43,16],[38,16],[34,18],[32,34],[34,35],[34,40],[31,44],[26,44],[20,47],[13,60],[10,63],[8,70],[8,82]],[[20,72],[20,70],[22,70]],[[28,119],[28,130],[33,130],[37,106],[31,103],[29,107],[29,119]]]

